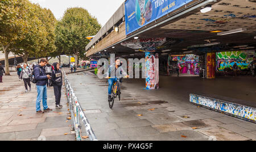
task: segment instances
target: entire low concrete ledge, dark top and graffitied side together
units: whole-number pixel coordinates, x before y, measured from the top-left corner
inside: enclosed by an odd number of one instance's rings
[[[202,94],[190,94],[189,98],[189,101],[193,104],[256,123],[256,108],[250,107],[248,104],[238,104],[240,101],[237,101],[237,99]],[[242,101],[241,103],[245,103],[245,101]]]

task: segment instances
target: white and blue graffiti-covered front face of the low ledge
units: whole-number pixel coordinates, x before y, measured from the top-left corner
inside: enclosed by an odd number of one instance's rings
[[[228,103],[217,99],[207,98],[205,96],[190,94],[190,102],[204,105],[210,109],[229,113],[235,117],[240,117],[249,121],[256,121],[256,109],[244,105]]]

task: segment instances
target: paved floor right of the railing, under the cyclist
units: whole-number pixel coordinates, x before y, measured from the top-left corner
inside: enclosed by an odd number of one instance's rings
[[[191,91],[255,102],[255,79],[160,77],[151,91],[143,79],[125,79],[110,109],[105,79],[90,71],[67,77],[98,140],[256,140],[256,124],[189,103]]]

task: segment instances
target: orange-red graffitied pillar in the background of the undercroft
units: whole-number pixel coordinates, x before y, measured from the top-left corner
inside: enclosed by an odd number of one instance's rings
[[[214,79],[216,71],[216,53],[207,53],[205,56],[205,62],[207,79]]]

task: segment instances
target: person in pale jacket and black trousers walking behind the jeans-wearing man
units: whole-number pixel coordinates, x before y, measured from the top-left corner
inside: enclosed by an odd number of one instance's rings
[[[24,68],[22,68],[22,71],[20,72],[19,79],[23,79],[24,86],[26,88],[25,92],[27,92],[28,91],[27,86],[30,87],[30,91],[31,91],[30,77],[31,77],[32,71],[27,66],[27,64],[24,64],[23,66]]]

